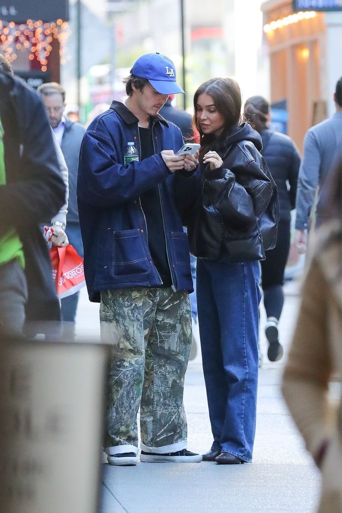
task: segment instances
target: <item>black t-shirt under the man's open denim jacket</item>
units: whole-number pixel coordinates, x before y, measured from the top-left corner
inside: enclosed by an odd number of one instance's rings
[[[141,143],[141,160],[144,160],[155,154],[152,131],[150,128],[139,127],[139,136]],[[172,285],[172,279],[167,260],[158,185],[151,187],[148,191],[141,194],[140,200],[147,224],[148,247],[153,263],[163,281],[161,287],[170,287]]]

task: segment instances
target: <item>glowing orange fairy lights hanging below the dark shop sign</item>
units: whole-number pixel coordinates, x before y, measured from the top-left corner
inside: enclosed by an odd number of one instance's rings
[[[28,19],[20,25],[0,19],[0,49],[10,63],[16,60],[18,52],[28,51],[29,60],[33,61],[35,58],[42,71],[46,71],[53,39],[60,43],[61,64],[70,61],[66,46],[70,33],[68,23],[62,19],[49,23]]]

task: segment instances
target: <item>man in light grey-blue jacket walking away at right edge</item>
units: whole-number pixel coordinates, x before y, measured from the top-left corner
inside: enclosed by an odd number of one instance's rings
[[[307,249],[307,231],[317,187],[319,191],[316,225],[322,221],[322,185],[338,160],[342,158],[342,76],[336,83],[334,102],[336,112],[333,116],[311,127],[304,139],[296,198],[295,246],[300,253]]]

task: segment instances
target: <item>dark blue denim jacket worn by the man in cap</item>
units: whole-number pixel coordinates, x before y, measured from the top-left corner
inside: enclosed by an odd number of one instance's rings
[[[138,119],[122,103],[113,102],[84,135],[77,194],[90,301],[100,301],[101,290],[162,284],[149,252],[140,203],[140,194],[156,184],[173,288],[193,290],[181,215],[199,190],[200,173],[169,172],[160,152],[176,152],[182,134],[159,115],[152,121],[156,154],[128,165],[123,164],[127,143],[134,142],[140,155],[141,148]]]

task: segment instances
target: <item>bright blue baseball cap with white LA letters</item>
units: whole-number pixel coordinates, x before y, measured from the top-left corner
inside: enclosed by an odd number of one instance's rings
[[[161,94],[185,94],[176,82],[174,63],[159,52],[141,55],[134,63],[130,73],[140,78],[146,78],[151,86]]]

